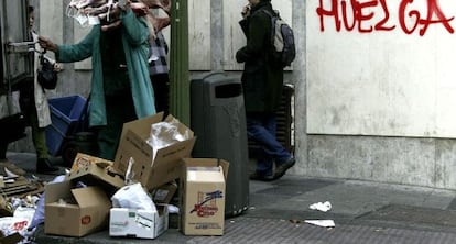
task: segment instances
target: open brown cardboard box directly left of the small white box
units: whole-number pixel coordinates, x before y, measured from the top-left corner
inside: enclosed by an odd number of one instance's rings
[[[107,226],[111,201],[101,188],[73,189],[72,181],[63,181],[46,185],[45,192],[46,234],[84,236]]]

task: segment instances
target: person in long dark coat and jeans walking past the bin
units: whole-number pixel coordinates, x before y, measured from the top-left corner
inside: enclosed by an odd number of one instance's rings
[[[250,179],[275,180],[295,164],[295,159],[275,136],[275,112],[282,96],[283,68],[269,62],[271,19],[262,12],[263,9],[273,13],[270,0],[249,0],[249,4],[243,8],[243,19],[239,24],[247,37],[247,45],[236,53],[236,60],[245,63],[241,80],[247,134],[262,147],[262,154],[257,158],[257,169]]]

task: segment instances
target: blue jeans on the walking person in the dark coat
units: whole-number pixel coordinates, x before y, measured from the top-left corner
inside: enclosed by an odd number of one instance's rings
[[[273,174],[274,160],[282,162],[292,157],[275,137],[275,114],[247,114],[246,120],[248,137],[261,146],[261,156],[257,158],[257,173],[270,176]]]

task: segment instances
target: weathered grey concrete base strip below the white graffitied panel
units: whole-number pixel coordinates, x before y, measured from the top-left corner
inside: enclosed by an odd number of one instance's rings
[[[456,142],[438,138],[308,136],[296,174],[455,189]]]

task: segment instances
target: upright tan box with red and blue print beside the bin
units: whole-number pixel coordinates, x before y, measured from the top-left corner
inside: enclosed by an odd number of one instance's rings
[[[228,162],[184,158],[181,230],[185,235],[222,235]]]

